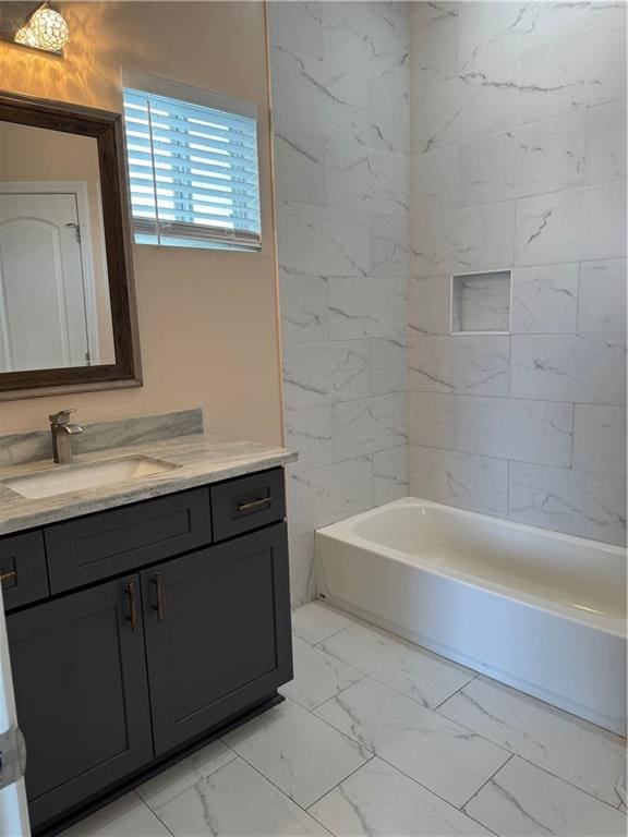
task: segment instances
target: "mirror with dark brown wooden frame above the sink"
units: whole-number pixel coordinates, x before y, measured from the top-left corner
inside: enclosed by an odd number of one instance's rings
[[[140,386],[122,118],[0,93],[0,400]]]

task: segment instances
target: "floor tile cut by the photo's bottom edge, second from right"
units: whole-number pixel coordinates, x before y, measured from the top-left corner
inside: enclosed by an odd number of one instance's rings
[[[488,835],[389,764],[373,759],[310,809],[341,837],[452,837]]]

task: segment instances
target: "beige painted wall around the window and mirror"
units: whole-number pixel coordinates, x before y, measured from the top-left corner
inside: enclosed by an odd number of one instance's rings
[[[269,104],[262,2],[59,3],[65,59],[0,44],[4,89],[121,110],[122,66],[253,101],[259,116],[264,250],[135,247],[144,386],[0,403],[0,432],[200,405],[206,428],[281,440]]]

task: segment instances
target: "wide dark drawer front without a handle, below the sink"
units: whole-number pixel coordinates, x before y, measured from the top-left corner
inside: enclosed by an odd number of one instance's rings
[[[46,529],[52,593],[212,542],[207,488],[194,488]]]

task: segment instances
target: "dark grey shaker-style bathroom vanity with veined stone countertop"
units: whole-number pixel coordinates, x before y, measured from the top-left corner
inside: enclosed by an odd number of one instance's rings
[[[142,457],[171,468],[17,493]],[[292,677],[291,459],[196,433],[82,453],[65,469],[0,469],[0,574],[36,833],[280,700]]]

